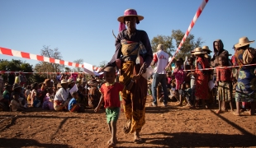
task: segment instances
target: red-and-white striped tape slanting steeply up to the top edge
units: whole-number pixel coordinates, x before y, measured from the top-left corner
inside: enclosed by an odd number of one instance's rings
[[[187,36],[189,35],[190,31],[192,30],[193,26],[195,25],[197,18],[201,15],[202,10],[204,9],[204,7],[206,7],[206,4],[209,0],[203,0],[201,2],[201,6],[197,9],[197,13],[196,15],[193,17],[192,22],[190,23],[190,25],[188,26],[187,32],[186,34],[183,36],[183,39],[181,41],[181,43],[178,45],[178,49],[176,49],[176,52],[173,54],[173,58],[175,58],[176,54],[179,52],[179,50],[181,49],[181,47],[183,46],[183,43],[185,42],[185,40],[187,39]],[[169,67],[170,63],[173,61],[173,58],[171,58],[171,60],[169,60],[168,65],[166,68]]]

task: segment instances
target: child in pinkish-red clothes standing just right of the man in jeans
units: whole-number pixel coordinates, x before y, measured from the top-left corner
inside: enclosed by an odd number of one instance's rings
[[[175,81],[176,81],[176,91],[181,90],[183,88],[183,82],[186,76],[186,73],[183,71],[182,65],[183,65],[183,62],[180,59],[178,59],[176,61],[176,68],[173,71],[173,76],[175,76]],[[179,95],[178,105],[183,105],[182,95]]]

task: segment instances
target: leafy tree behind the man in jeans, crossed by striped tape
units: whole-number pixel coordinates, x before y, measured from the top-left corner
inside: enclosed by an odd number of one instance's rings
[[[157,35],[151,40],[152,50],[156,52],[158,44],[164,44],[164,51],[170,56],[173,56],[173,53],[178,49],[179,44],[181,43],[183,36],[185,34],[181,30],[172,30],[171,36]],[[204,42],[201,38],[197,38],[195,41],[194,35],[188,35],[187,39],[183,43],[182,48],[179,53],[176,55],[176,58],[185,58],[189,56],[193,49],[196,49],[198,46],[201,46]],[[175,45],[175,46],[174,46]]]

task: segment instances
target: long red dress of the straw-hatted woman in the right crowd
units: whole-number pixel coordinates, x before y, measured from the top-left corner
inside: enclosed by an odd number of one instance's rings
[[[206,58],[197,58],[196,62],[196,99],[208,99],[208,79],[209,75],[207,71],[204,70],[199,70],[199,69],[204,69],[204,68],[209,68],[209,62]]]

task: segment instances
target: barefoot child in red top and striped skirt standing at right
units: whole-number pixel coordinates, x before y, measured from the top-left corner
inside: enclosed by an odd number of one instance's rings
[[[219,110],[216,113],[221,113],[222,109],[226,111],[225,102],[230,102],[230,109],[233,111],[231,98],[232,98],[232,72],[230,68],[226,68],[227,59],[225,56],[219,57],[220,66],[216,68],[216,86],[218,86],[217,99],[219,100]]]

